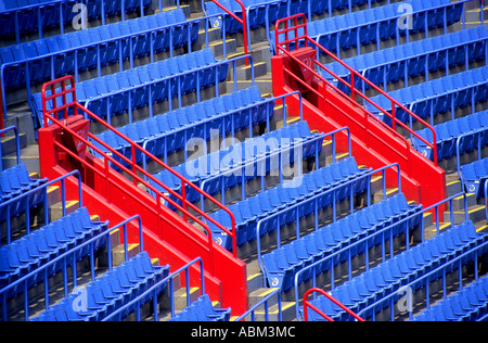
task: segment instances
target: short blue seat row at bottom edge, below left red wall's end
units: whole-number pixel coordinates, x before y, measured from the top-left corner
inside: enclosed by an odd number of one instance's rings
[[[229,321],[230,315],[230,308],[215,308],[204,294],[168,321]]]

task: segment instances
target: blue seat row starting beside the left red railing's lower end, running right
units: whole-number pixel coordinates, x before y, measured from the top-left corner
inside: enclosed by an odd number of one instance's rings
[[[313,195],[335,189],[334,192],[318,196],[318,207],[324,208],[332,205],[333,193],[335,193],[335,201],[339,202],[347,199],[350,192],[352,194],[363,192],[369,185],[370,178],[368,177],[347,186],[341,187],[341,183],[359,178],[368,172],[370,169],[359,168],[354,157],[348,157],[230,205],[229,211],[234,214],[235,218],[237,246],[256,240],[258,221],[270,215],[279,214],[273,220],[266,221],[260,230],[261,237],[277,230],[278,223],[280,226],[285,226],[294,223],[297,216],[303,218],[310,215],[313,212],[313,205],[290,207],[303,203]],[[210,217],[223,227],[231,228],[230,216],[223,209],[210,214]],[[224,249],[232,250],[232,241],[226,232],[211,223],[208,225],[213,239]]]

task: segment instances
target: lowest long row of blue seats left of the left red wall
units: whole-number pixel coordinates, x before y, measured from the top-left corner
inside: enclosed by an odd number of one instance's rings
[[[146,252],[105,272],[86,287],[86,308],[79,305],[78,294],[74,293],[41,313],[33,321],[101,321],[136,297],[142,295],[169,275],[169,266],[154,266]],[[160,284],[156,293],[166,291],[166,283]],[[81,291],[82,292],[82,291]],[[150,292],[140,304],[150,302],[154,292]],[[126,308],[116,320],[124,319],[136,310],[136,306]],[[76,310],[75,310],[76,309]]]

